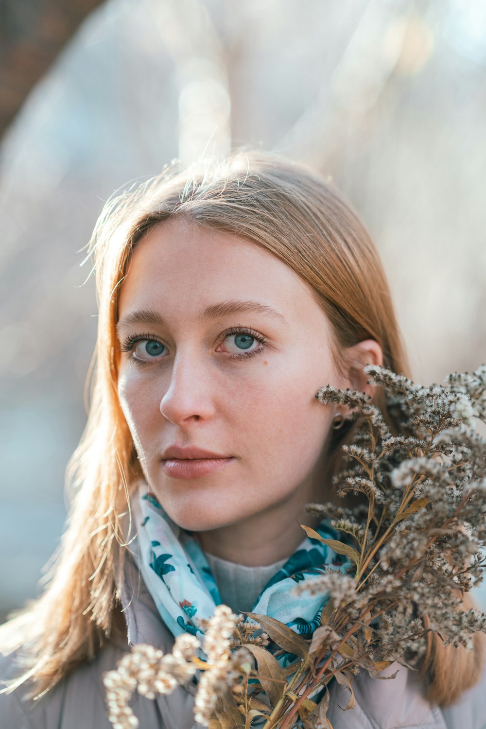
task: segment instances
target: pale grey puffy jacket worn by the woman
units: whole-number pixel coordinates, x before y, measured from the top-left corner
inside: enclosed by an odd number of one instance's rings
[[[132,569],[131,567],[129,568]],[[0,695],[0,729],[112,729],[106,716],[103,671],[114,668],[129,644],[149,643],[170,652],[173,637],[162,623],[151,596],[142,584],[133,596],[128,577],[123,601],[128,625],[126,644],[107,645],[95,660],[77,668],[40,701],[26,701],[22,688]],[[328,717],[334,729],[486,729],[486,671],[460,701],[443,708],[431,706],[422,695],[415,671],[402,666],[395,679],[380,681],[362,671],[353,681],[357,706],[348,712],[349,691],[331,685]],[[0,679],[18,671],[12,657],[0,659]],[[385,674],[385,673],[384,673]],[[173,694],[150,701],[135,694],[130,705],[140,729],[200,729],[192,712],[194,697],[179,687]]]

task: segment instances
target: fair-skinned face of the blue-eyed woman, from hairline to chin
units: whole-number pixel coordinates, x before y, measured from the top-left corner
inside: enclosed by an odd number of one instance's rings
[[[219,529],[322,494],[334,411],[315,393],[347,383],[326,315],[288,266],[171,219],[133,252],[117,328],[119,401],[173,521]]]

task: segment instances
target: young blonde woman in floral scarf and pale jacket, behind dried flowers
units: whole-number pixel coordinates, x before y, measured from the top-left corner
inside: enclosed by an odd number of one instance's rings
[[[168,168],[107,203],[90,251],[92,405],[68,469],[76,495],[55,573],[1,629],[4,652],[15,651],[2,666],[14,679],[0,697],[6,726],[109,729],[101,674],[130,644],[170,651],[219,601],[295,612],[286,563],[312,569],[299,523],[316,526],[307,502],[334,499],[349,437],[342,410],[315,393],[350,387],[383,409],[364,365],[408,369],[363,225],[332,187],[278,157]],[[423,678],[359,674],[347,714],[334,687],[334,729],[479,729],[481,646],[479,636],[471,651],[431,639]],[[192,704],[179,687],[136,696],[133,710],[142,729],[184,729]]]

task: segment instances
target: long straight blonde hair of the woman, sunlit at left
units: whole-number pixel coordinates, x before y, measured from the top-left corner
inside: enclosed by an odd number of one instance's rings
[[[22,647],[26,654],[26,670],[10,690],[30,679],[33,694],[45,693],[93,658],[112,631],[124,629],[122,518],[142,474],[117,396],[119,290],[144,233],[178,216],[245,238],[289,265],[329,317],[336,358],[372,338],[383,349],[383,365],[408,374],[375,246],[337,190],[307,168],[264,153],[237,154],[197,169],[172,165],[109,200],[88,244],[96,272],[98,339],[88,377],[87,426],[66,470],[74,493],[71,515],[44,594],[0,628],[4,652]],[[384,402],[376,404],[385,408]],[[388,421],[398,432],[399,424],[390,416]],[[334,469],[340,464],[338,446],[330,453]],[[481,646],[479,637],[471,651],[444,649],[436,636],[429,640],[423,671],[431,700],[451,703],[474,684]]]

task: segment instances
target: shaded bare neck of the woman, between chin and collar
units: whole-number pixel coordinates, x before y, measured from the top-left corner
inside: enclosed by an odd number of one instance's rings
[[[315,527],[319,521],[305,511],[301,499],[299,504],[295,501],[292,495],[239,523],[200,531],[200,545],[211,555],[248,567],[274,564],[291,555],[305,538],[300,524]]]

